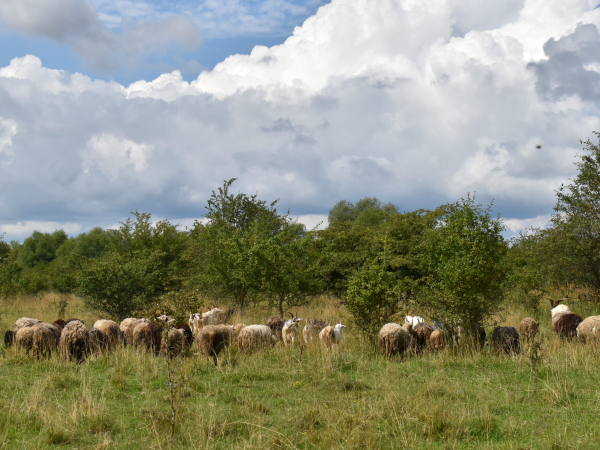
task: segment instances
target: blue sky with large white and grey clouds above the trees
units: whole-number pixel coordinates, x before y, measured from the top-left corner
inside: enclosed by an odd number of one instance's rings
[[[595,1],[2,0],[0,232],[191,225],[234,177],[309,227],[469,193],[544,226],[600,130]]]

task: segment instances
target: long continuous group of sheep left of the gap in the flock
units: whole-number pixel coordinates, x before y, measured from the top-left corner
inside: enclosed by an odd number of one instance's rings
[[[251,353],[261,348],[272,347],[278,340],[293,345],[297,341],[299,322],[303,319],[292,315],[284,321],[278,316],[270,317],[267,325],[238,323],[228,325],[233,313],[222,314],[219,308],[205,313],[191,314],[189,323],[174,325],[166,315],[157,317],[156,322],[148,319],[128,318],[118,325],[112,320],[98,320],[92,328],[87,328],[80,319],[56,320],[44,323],[38,319],[22,317],[15,322],[14,331],[4,335],[7,346],[15,345],[17,350],[32,351],[36,358],[47,358],[57,350],[65,360],[82,362],[89,355],[114,350],[117,346],[131,345],[136,349],[178,354],[194,343],[198,351],[212,357],[217,364],[217,356],[223,349],[237,342],[242,352]],[[162,330],[168,329],[167,336]],[[344,325],[329,326],[319,319],[308,320],[303,330],[305,342],[319,340],[324,348],[331,349],[342,339]]]

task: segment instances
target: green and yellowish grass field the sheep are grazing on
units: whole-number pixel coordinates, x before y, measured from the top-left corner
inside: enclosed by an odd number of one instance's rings
[[[0,329],[21,316],[53,321],[61,308],[93,324],[78,299],[60,300],[3,301]],[[347,321],[327,300],[299,313]],[[524,316],[510,311],[506,324]],[[199,370],[181,392],[173,439],[164,358],[125,348],[76,365],[0,347],[0,449],[600,448],[600,349],[561,343],[547,316],[537,317],[537,376],[527,347],[512,358],[486,348],[388,361],[353,329],[332,353],[232,348],[217,367],[186,358],[185,373]]]

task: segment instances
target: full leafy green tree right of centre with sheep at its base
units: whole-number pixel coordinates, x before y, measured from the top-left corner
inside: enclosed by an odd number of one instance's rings
[[[426,238],[429,275],[419,303],[445,323],[460,323],[471,337],[499,310],[503,295],[508,246],[491,206],[483,209],[470,196],[444,205]]]

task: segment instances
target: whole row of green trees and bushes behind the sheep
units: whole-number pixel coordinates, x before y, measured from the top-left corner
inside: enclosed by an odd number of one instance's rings
[[[212,302],[262,303],[283,315],[328,293],[369,333],[410,310],[468,333],[508,301],[535,309],[542,296],[567,288],[597,301],[600,147],[582,144],[578,175],[557,191],[551,227],[512,241],[491,204],[470,196],[404,213],[377,198],[341,201],[326,229],[307,230],[276,202],[232,194],[231,179],[191,229],[135,212],[114,230],[2,241],[0,290],[74,293],[115,319]]]

